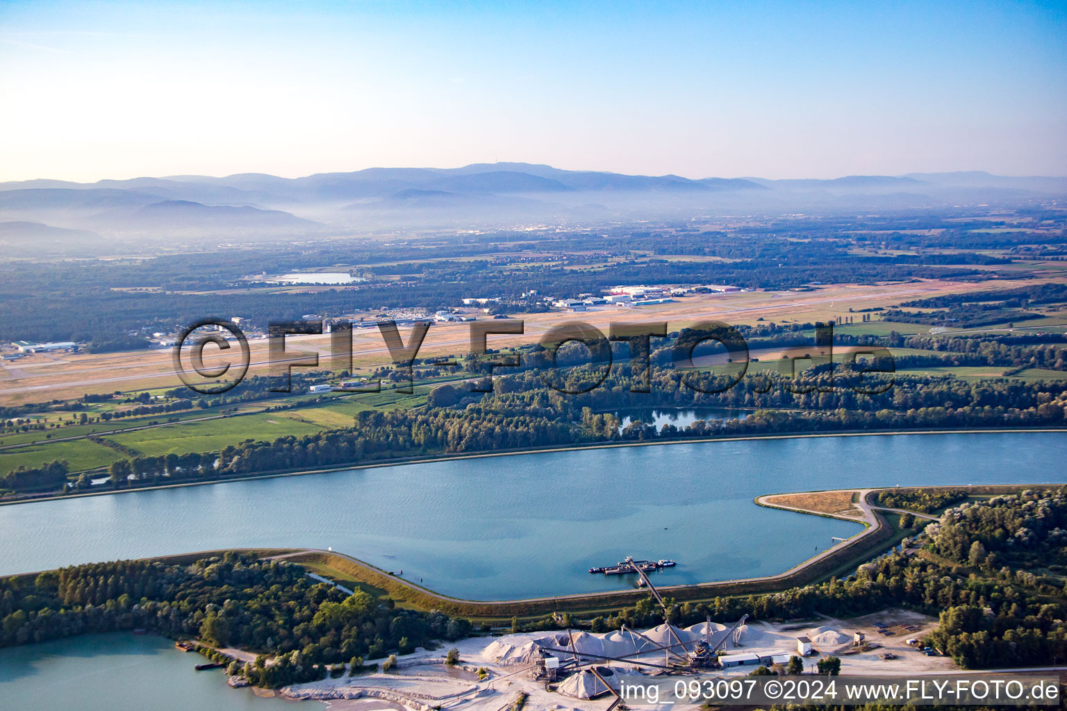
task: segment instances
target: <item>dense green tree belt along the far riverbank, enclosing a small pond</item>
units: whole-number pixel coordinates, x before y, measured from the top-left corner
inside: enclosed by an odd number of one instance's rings
[[[759,373],[727,388],[733,378],[726,375],[653,367],[651,391],[644,393],[631,392],[640,377],[635,378],[628,370],[628,366],[614,369],[599,387],[575,395],[547,387],[540,371],[528,370],[495,379],[491,393],[473,392],[469,383],[441,385],[430,392],[425,407],[363,410],[347,427],[283,436],[273,441],[250,439],[219,451],[189,454],[141,456],[130,450],[129,457],[111,465],[111,482],[113,486],[127,486],[131,482],[156,483],[164,476],[165,481],[176,482],[575,443],[1063,426],[1067,408],[1067,383],[1061,381],[968,382],[897,375],[891,390],[866,395],[835,387],[857,376],[847,370],[813,368],[796,377]],[[595,366],[561,371],[563,385],[587,383],[596,371]],[[685,427],[667,424],[656,430],[651,423],[635,421],[621,429],[616,413],[635,407],[731,408],[749,414],[744,419],[697,420]]]

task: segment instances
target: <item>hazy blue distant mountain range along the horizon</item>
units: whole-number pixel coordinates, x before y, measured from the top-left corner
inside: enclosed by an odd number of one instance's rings
[[[1035,205],[1067,196],[1067,178],[982,172],[829,180],[689,179],[563,171],[530,163],[367,168],[303,178],[237,174],[77,183],[0,183],[0,242],[94,236],[278,237],[382,227],[503,226],[529,221]],[[20,237],[21,236],[21,237]]]

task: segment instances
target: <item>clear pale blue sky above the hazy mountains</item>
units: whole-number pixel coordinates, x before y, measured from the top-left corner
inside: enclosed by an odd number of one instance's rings
[[[0,180],[1067,174],[1067,2],[0,0]]]

